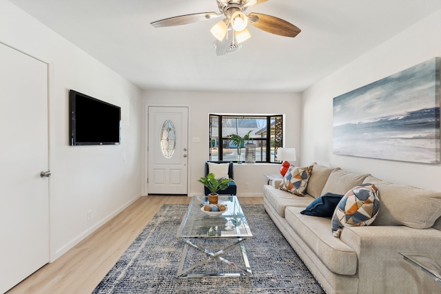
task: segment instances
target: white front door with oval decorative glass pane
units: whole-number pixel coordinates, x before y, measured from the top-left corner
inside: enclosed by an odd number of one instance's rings
[[[148,107],[147,191],[187,194],[188,108]]]

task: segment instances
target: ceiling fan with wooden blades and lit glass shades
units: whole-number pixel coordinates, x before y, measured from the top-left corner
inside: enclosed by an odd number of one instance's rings
[[[155,28],[170,27],[174,25],[185,25],[197,21],[206,21],[224,16],[225,19],[216,23],[211,29],[212,34],[217,41],[214,44],[216,54],[223,55],[227,52],[235,52],[240,49],[243,41],[249,39],[251,34],[247,30],[247,24],[254,27],[278,34],[279,36],[297,36],[300,29],[283,19],[271,17],[271,15],[252,12],[245,14],[249,6],[255,6],[268,0],[216,0],[220,13],[203,12],[194,14],[185,14],[178,17],[170,17],[150,23]]]

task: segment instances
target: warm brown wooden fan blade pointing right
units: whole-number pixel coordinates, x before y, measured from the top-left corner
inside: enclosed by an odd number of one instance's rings
[[[279,19],[271,17],[271,15],[252,12],[248,15],[249,23],[260,30],[270,32],[271,34],[278,34],[279,36],[297,36],[301,32],[296,25]]]

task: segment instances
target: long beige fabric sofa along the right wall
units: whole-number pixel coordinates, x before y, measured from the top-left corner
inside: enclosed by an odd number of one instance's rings
[[[440,284],[400,255],[441,256],[441,192],[317,164],[305,197],[278,183],[265,185],[265,209],[327,293],[441,293]],[[380,191],[380,210],[369,227],[345,227],[336,238],[330,218],[300,213],[324,193],[345,194],[362,183]]]

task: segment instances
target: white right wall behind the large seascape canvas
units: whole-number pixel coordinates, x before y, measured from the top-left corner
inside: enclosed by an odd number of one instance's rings
[[[370,173],[382,180],[441,191],[441,165],[332,154],[332,99],[413,65],[441,56],[441,10],[349,63],[302,95],[302,165]]]

